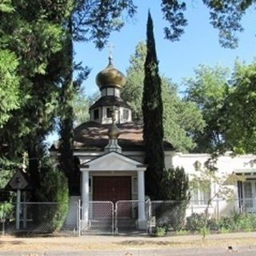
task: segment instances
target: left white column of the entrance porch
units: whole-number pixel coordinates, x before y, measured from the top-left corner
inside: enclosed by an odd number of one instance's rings
[[[88,226],[89,200],[89,170],[82,170],[82,228]]]

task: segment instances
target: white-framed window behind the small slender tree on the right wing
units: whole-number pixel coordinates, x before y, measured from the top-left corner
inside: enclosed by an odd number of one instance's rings
[[[199,182],[192,190],[191,201],[195,206],[206,206],[210,200],[210,182]]]

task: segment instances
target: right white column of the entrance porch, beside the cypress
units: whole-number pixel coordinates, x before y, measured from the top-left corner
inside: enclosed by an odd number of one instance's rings
[[[145,216],[145,182],[144,171],[138,170],[138,225],[139,228],[144,229],[146,225]]]

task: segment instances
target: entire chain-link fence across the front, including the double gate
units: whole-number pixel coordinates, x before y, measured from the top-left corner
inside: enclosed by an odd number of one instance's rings
[[[0,202],[2,234],[60,235],[256,231],[256,199],[205,201]]]

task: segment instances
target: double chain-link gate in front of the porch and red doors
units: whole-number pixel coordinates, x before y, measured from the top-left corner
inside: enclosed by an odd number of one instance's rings
[[[82,207],[87,207],[88,212]],[[145,227],[138,225],[138,207],[145,211]],[[80,206],[79,230],[80,234],[118,234],[132,231],[147,231],[148,202],[137,200],[113,202],[89,202]],[[82,216],[84,213],[84,216]]]

